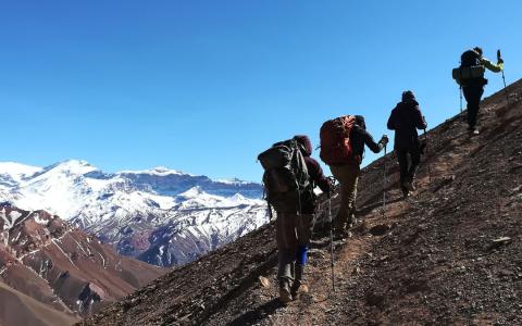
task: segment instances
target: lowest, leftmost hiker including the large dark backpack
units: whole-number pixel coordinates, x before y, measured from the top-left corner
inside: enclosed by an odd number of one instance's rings
[[[331,188],[311,154],[310,138],[298,135],[274,143],[258,156],[264,168],[263,184],[269,209],[273,206],[277,212],[277,280],[283,303],[297,299],[303,281],[316,208],[313,189],[318,186],[330,193]]]

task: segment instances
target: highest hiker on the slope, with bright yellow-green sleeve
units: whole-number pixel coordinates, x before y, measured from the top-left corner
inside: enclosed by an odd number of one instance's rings
[[[470,74],[469,78],[461,78],[458,83],[462,87],[465,101],[468,102],[468,130],[474,135],[478,135],[476,128],[476,116],[478,114],[482,95],[484,93],[484,86],[487,79],[484,78],[485,68],[494,73],[499,73],[504,68],[504,60],[498,58],[497,64],[494,64],[486,58],[482,57],[482,49],[478,47],[468,50],[460,57],[460,68],[480,67],[481,73],[477,76]]]

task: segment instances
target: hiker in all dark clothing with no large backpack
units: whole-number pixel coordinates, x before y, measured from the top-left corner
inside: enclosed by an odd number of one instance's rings
[[[421,162],[421,143],[417,129],[427,127],[422,116],[419,103],[411,90],[402,92],[401,101],[391,110],[388,118],[388,129],[395,130],[394,149],[399,161],[400,189],[405,197],[415,190],[415,173]],[[411,164],[408,166],[408,154]]]

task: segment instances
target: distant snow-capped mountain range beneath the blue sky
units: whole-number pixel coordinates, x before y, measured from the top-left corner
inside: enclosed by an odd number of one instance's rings
[[[268,222],[259,184],[157,167],[108,174],[85,161],[0,163],[0,201],[46,210],[120,253],[161,266],[189,262]]]

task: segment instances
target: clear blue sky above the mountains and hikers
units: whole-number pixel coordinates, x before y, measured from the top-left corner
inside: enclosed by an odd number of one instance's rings
[[[518,0],[0,0],[0,161],[259,181],[259,152],[316,145],[327,118],[363,114],[378,139],[405,89],[431,126],[452,116],[467,48],[501,48],[519,79],[521,16]]]

